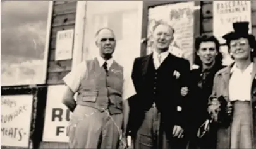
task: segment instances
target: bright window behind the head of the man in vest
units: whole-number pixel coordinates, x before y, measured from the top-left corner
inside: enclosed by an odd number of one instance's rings
[[[87,1],[82,60],[99,55],[94,35],[102,27],[109,27],[116,35],[113,57],[123,67],[131,69],[135,57],[140,56],[143,1]]]

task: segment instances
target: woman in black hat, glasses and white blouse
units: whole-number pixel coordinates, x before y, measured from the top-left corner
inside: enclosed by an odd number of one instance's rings
[[[256,148],[255,37],[248,22],[223,36],[235,61],[214,77],[208,111],[218,124],[217,148]]]

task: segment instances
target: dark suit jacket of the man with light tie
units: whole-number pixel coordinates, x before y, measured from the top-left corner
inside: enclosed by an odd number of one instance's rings
[[[147,75],[150,73],[150,60],[152,60],[152,54],[136,58],[133,65],[132,79],[137,94],[133,99],[130,99],[130,120],[128,123],[128,129],[133,131],[133,135],[136,134],[142,124],[143,114],[145,113],[145,109],[147,109],[147,105],[152,106],[152,101],[149,96],[151,92],[147,91],[149,82],[146,81]],[[166,74],[161,77],[161,80],[166,79],[166,81],[161,81],[161,89],[164,89],[164,92],[160,94],[165,95],[159,95],[159,97],[164,98],[157,99],[159,102],[155,102],[155,104],[159,107],[161,115],[169,116],[169,130],[171,130],[171,127],[175,124],[184,128],[187,121],[183,111],[179,113],[173,113],[173,111],[177,111],[176,104],[183,105],[183,102],[186,101],[184,97],[181,97],[180,89],[189,84],[190,64],[188,60],[169,54],[164,62],[162,62],[161,67],[162,65],[168,66],[165,67]],[[180,72],[178,79],[174,78],[174,71]]]

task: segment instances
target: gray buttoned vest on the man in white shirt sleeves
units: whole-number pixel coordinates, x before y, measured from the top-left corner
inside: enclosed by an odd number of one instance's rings
[[[97,58],[87,60],[87,72],[78,89],[77,104],[110,114],[122,113],[123,67],[113,62],[106,74]]]

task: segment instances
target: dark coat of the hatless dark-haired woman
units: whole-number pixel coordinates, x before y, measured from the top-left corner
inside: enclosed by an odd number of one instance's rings
[[[207,71],[207,75],[204,78],[202,72],[202,67],[198,69],[193,69],[191,71],[191,87],[190,93],[188,94],[188,121],[190,133],[190,148],[196,148],[200,146],[201,148],[212,148],[215,141],[214,132],[210,132],[207,138],[197,139],[197,130],[201,124],[208,118],[209,114],[207,113],[208,99],[212,94],[212,86],[214,82],[214,75],[217,71],[222,69],[224,66],[216,63],[212,68]],[[211,129],[212,130],[212,129]]]

